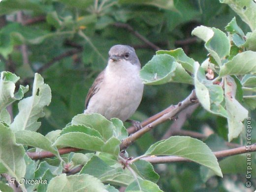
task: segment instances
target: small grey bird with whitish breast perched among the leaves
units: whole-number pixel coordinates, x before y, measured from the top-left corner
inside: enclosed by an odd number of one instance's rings
[[[135,50],[128,45],[114,45],[108,55],[106,68],[86,97],[84,113],[99,113],[108,120],[115,117],[124,122],[136,111],[143,95],[141,65]]]

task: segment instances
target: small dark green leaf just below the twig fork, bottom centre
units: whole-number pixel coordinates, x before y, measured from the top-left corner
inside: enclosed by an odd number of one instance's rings
[[[141,176],[141,178],[145,180],[152,181],[157,183],[160,176],[154,170],[153,165],[145,160],[137,160],[133,163],[138,170],[136,173]]]

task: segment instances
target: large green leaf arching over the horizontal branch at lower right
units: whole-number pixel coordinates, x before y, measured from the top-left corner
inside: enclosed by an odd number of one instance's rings
[[[153,144],[146,156],[178,156],[212,169],[218,176],[223,176],[218,160],[209,147],[198,139],[187,136],[172,136]]]

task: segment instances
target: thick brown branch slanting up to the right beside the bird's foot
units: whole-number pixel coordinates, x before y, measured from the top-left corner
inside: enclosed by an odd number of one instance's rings
[[[124,139],[120,145],[120,149],[121,150],[126,149],[132,142],[137,140],[146,132],[150,131],[152,128],[155,128],[157,125],[167,120],[172,120],[173,117],[175,117],[180,111],[197,102],[198,100],[195,96],[195,91],[193,90],[192,93],[187,98],[185,98],[182,102],[179,102],[177,105],[170,106],[167,109],[163,110],[162,112],[158,113],[157,115],[154,115],[153,117],[149,118],[149,119],[155,119],[154,121],[147,119],[146,121],[150,122],[147,125],[145,125],[146,124],[145,122],[142,122],[143,128],[141,128],[137,132],[133,133],[132,135]]]

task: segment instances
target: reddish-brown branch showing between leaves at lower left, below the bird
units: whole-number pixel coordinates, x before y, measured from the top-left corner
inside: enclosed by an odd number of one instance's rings
[[[76,151],[80,151],[80,150],[81,149],[77,149],[77,148],[73,148],[73,147],[66,147],[66,148],[59,149],[59,153],[60,153],[60,155],[63,155],[63,154],[67,154],[70,152],[76,152]],[[49,151],[27,152],[27,155],[33,160],[55,157],[55,155]]]

